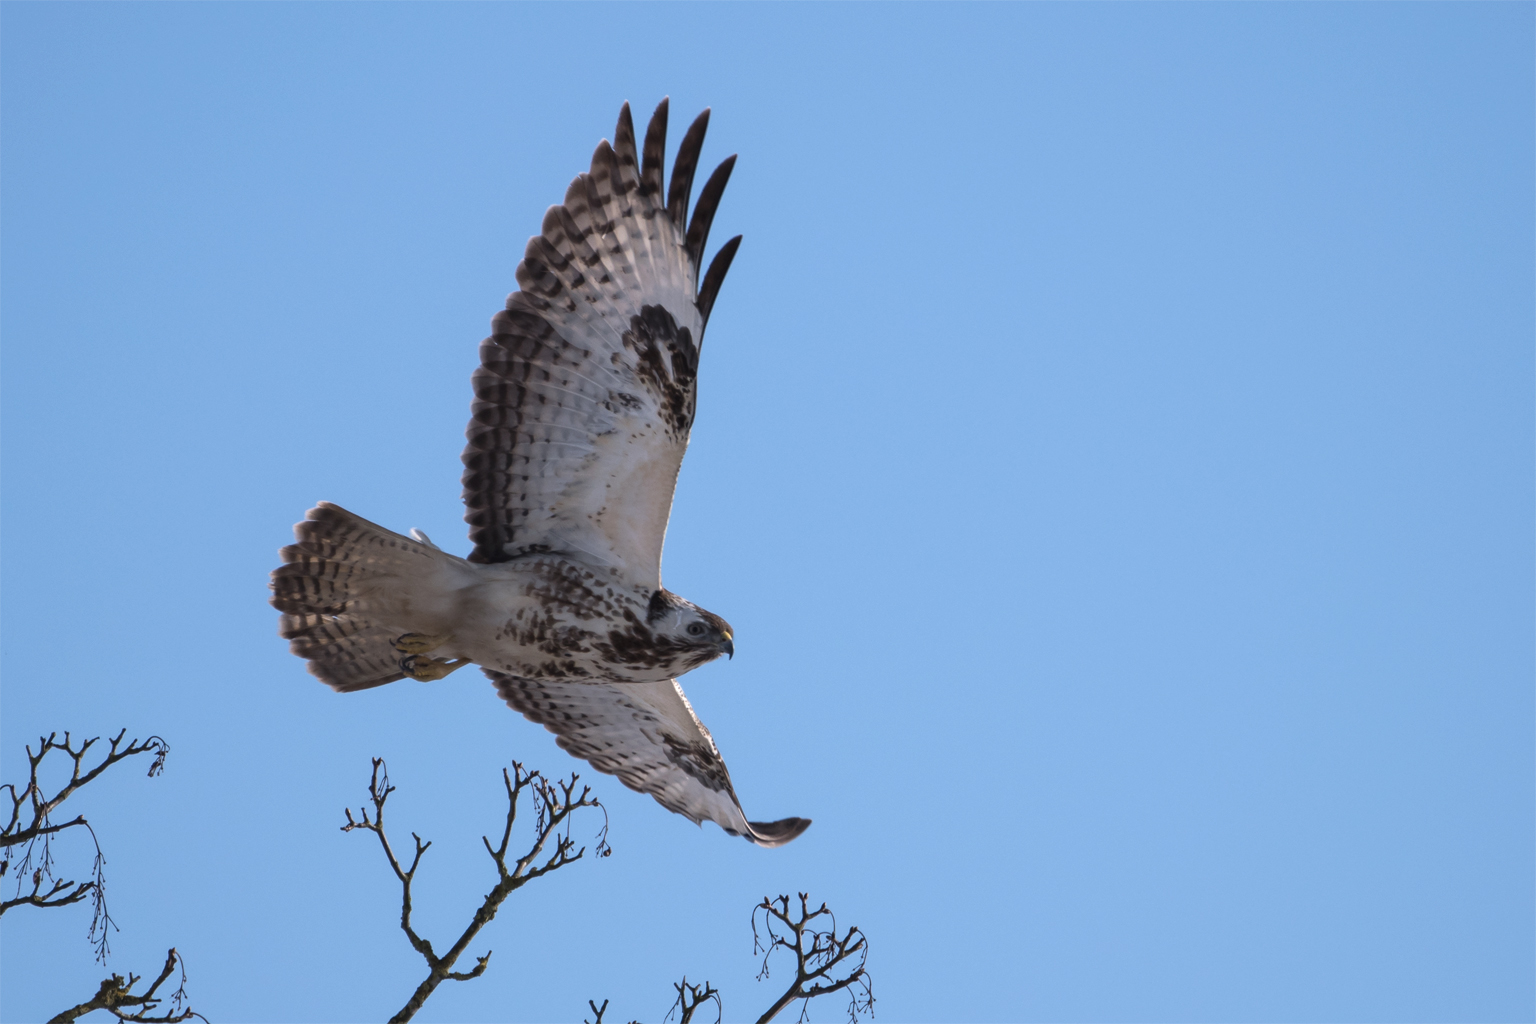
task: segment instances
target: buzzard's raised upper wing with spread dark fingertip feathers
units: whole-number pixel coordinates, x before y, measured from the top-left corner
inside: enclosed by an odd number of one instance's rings
[[[636,155],[630,104],[518,264],[492,321],[464,448],[472,562],[562,551],[660,586],[703,325],[740,236],[699,267],[736,158],[687,216],[705,111],[664,189],[667,100]]]

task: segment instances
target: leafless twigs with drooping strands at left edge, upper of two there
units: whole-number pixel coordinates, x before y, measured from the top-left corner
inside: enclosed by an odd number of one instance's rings
[[[127,729],[108,740],[108,752],[94,768],[86,766],[86,754],[100,737],[84,740],[78,746],[75,746],[68,732],[65,732],[63,740],[58,738],[57,732],[38,737],[37,752],[31,746],[26,748],[29,769],[26,786],[17,789],[12,783],[0,785],[0,791],[11,791],[11,815],[5,829],[0,831],[0,878],[11,870],[15,851],[22,847],[22,860],[15,864],[15,897],[0,901],[0,913],[18,906],[63,907],[91,897],[94,912],[91,915],[89,936],[100,963],[106,963],[111,952],[108,933],[115,927],[112,917],[106,910],[106,877],[103,875],[106,857],[103,857],[101,844],[97,841],[95,831],[86,821],[84,815],[75,815],[71,821],[60,824],[54,824],[51,815],[77,789],[91,785],[101,777],[101,772],[121,760],[138,754],[154,754],[155,758],[149,765],[149,775],[158,775],[164,769],[166,754],[170,752],[170,746],[164,740],[152,735],[143,743],[135,738],[124,745],[124,735],[127,735]],[[72,768],[69,780],[57,792],[48,795],[38,781],[38,772],[43,760],[54,751],[68,757],[72,761]],[[91,834],[91,841],[95,844],[95,861],[89,881],[72,881],[58,878],[54,874],[54,837],[72,827],[86,829]]]

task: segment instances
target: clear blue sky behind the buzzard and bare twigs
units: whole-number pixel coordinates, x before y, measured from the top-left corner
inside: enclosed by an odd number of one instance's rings
[[[3,777],[72,804],[114,970],[358,1021],[422,966],[370,837],[490,886],[459,672],[336,695],[266,574],[318,499],[467,550],[468,373],[524,239],[670,94],[739,152],[670,588],[762,851],[596,778],[424,1021],[756,1016],[748,910],[871,936],[880,1021],[1528,1021],[1531,5],[5,5]],[[66,864],[83,864],[78,844]],[[95,990],[6,915],[0,1015]],[[828,1001],[831,1003],[831,1001]],[[813,1007],[837,1019],[840,1006]]]

